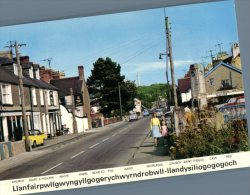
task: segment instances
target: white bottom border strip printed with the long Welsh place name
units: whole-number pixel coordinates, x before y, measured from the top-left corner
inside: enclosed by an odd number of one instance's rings
[[[0,181],[0,194],[30,194],[249,167],[250,152]],[[47,186],[47,187],[46,187]]]

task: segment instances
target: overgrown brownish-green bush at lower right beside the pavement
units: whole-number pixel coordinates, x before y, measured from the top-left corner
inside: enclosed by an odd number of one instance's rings
[[[211,125],[187,127],[178,136],[169,134],[169,153],[172,159],[202,157],[247,151],[246,121],[231,121],[226,128],[216,130]]]

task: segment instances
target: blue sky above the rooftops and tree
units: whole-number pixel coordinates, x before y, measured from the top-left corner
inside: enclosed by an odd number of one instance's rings
[[[238,41],[233,0],[165,8],[171,23],[176,80],[193,63],[208,63],[209,50],[230,52]],[[166,83],[166,33],[164,8],[101,16],[0,27],[0,51],[8,41],[27,44],[21,55],[51,68],[77,76],[78,65],[90,76],[93,63],[110,57],[121,65],[126,79],[139,85]],[[169,76],[170,78],[170,76]],[[170,83],[171,83],[171,79]]]

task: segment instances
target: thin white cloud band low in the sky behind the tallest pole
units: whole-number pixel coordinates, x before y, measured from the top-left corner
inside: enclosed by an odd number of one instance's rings
[[[198,61],[198,60],[197,60]],[[176,60],[174,61],[174,67],[189,66],[190,64],[196,63],[194,60]],[[136,64],[124,64],[126,68],[133,68],[136,72],[146,72],[152,70],[161,70],[166,68],[166,61],[160,62],[144,62]]]

